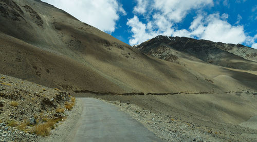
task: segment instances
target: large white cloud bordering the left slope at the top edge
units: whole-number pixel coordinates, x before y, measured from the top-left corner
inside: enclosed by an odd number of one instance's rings
[[[43,2],[63,9],[80,21],[109,33],[114,32],[120,14],[126,14],[117,0],[43,0]]]

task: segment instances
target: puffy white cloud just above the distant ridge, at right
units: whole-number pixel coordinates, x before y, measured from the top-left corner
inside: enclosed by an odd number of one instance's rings
[[[224,14],[219,16],[218,13],[208,16],[199,14],[194,18],[189,30],[177,30],[172,35],[196,37],[212,40],[213,42],[232,44],[243,43],[246,40],[242,26],[232,26],[224,20]]]

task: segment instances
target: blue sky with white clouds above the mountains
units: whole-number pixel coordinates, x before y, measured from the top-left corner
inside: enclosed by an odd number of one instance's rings
[[[256,0],[42,0],[131,46],[157,35],[257,49]]]

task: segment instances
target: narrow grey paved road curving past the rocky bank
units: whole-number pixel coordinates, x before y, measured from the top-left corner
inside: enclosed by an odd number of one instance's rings
[[[68,141],[161,141],[117,107],[94,98],[81,99],[83,112]]]

